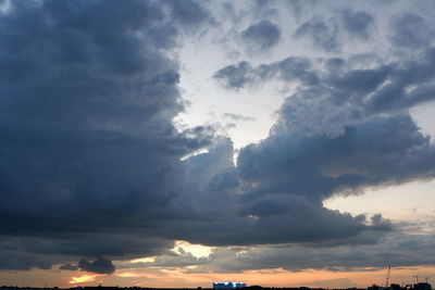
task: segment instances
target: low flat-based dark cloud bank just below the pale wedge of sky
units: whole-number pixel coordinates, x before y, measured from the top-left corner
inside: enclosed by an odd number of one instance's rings
[[[343,239],[348,239],[348,243],[365,242],[360,239],[360,235],[368,231],[373,231],[370,242],[375,243],[380,237],[391,230],[387,224],[366,224],[362,216],[352,217],[323,209],[319,202],[297,193],[263,192],[262,198],[252,194],[253,201],[249,201],[249,197],[225,203],[212,200],[209,205],[211,209],[201,214],[202,220],[174,223],[165,235],[174,237],[181,231],[190,242],[207,245],[326,241],[334,244]],[[225,196],[221,193],[220,198],[225,199]],[[281,202],[279,206],[268,199]],[[268,205],[275,207],[270,209]]]

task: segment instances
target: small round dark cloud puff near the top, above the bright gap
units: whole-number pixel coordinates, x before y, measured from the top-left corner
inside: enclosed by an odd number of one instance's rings
[[[254,45],[260,50],[268,50],[279,41],[281,29],[270,21],[261,21],[241,33],[249,46]]]

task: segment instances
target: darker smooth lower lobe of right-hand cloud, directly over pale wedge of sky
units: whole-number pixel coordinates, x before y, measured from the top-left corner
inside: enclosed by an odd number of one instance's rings
[[[327,125],[314,130],[324,122],[321,113],[307,124],[306,111],[297,115],[297,105],[289,101],[273,136],[239,153],[240,175],[261,180],[259,191],[291,189],[295,194],[326,199],[339,190],[433,177],[430,163],[435,149],[408,115],[373,117],[327,136]]]

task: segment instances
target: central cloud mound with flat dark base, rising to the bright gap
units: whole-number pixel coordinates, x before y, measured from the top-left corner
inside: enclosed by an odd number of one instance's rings
[[[262,144],[272,143],[270,139]],[[278,172],[281,162],[286,162],[288,154],[297,154],[285,146],[283,143],[282,156],[279,152],[266,156],[269,152],[264,150],[264,155],[256,155],[251,160],[256,162],[254,160],[260,159],[261,162],[271,159],[270,166]],[[287,155],[284,153],[286,150]],[[265,178],[248,176],[247,167],[257,166],[246,164],[246,153],[249,150],[243,149],[244,156],[239,156],[239,165],[236,168],[232,165],[232,151],[226,142],[221,142],[210,153],[189,160],[189,167],[192,168],[188,171],[191,178],[189,179],[195,182],[192,186],[198,192],[191,197],[185,196],[178,205],[191,206],[190,219],[188,223],[179,220],[165,224],[161,235],[166,238],[183,236],[192,243],[208,245],[286,241],[333,244],[339,243],[340,240],[346,240],[347,243],[374,243],[391,230],[391,225],[386,220],[373,223],[368,222],[365,216],[352,217],[324,209],[320,196],[327,189],[323,189],[322,185],[315,187],[321,178],[310,181],[307,177],[306,180],[298,181],[296,179],[300,176],[293,178],[290,172],[276,178],[270,177],[272,174]],[[304,156],[301,156],[301,160]],[[259,166],[268,169],[264,164]],[[259,166],[253,169],[258,169]],[[313,169],[315,171],[314,167]],[[288,182],[285,179],[288,179]],[[330,181],[333,182],[333,179]],[[362,236],[368,232],[372,232],[372,238],[363,239]]]

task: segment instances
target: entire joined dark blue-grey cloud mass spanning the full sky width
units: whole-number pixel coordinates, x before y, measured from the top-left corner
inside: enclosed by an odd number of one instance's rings
[[[274,46],[262,29],[279,29],[260,24],[252,39]],[[16,1],[0,15],[1,269],[110,274],[110,260],[167,255],[174,240],[330,249],[394,229],[323,201],[434,177],[433,144],[407,114],[433,98],[434,51],[368,70],[299,58],[221,70],[232,88],[299,86],[235,166],[229,139],[172,123],[184,109],[173,52],[214,25],[187,0]]]

